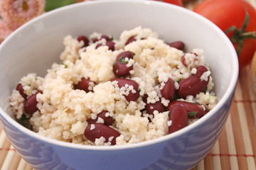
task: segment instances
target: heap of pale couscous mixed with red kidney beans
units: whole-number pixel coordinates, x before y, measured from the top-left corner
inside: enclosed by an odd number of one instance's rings
[[[38,134],[82,145],[126,145],[168,135],[217,103],[203,50],[183,52],[149,28],[119,40],[64,38],[62,63],[22,77],[11,111]]]

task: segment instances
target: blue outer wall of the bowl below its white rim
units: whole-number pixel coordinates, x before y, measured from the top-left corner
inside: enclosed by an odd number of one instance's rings
[[[191,169],[213,147],[227,119],[233,96],[213,118],[171,140],[116,150],[66,148],[37,140],[1,117],[11,144],[34,169]]]

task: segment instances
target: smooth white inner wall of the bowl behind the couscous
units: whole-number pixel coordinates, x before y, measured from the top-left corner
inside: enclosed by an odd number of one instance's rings
[[[75,37],[96,31],[119,39],[123,30],[137,26],[151,28],[167,42],[185,42],[187,52],[202,48],[212,71],[215,94],[223,100],[219,105],[225,102],[238,75],[235,50],[225,34],[185,8],[156,1],[127,0],[92,1],[59,8],[18,28],[0,46],[1,108],[11,114],[9,96],[21,77],[29,72],[44,76],[53,62],[60,62],[65,35]],[[1,114],[8,117],[4,112]]]

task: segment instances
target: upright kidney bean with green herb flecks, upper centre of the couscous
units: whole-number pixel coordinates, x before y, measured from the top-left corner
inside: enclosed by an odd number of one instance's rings
[[[127,67],[128,61],[125,58],[133,59],[134,53],[130,51],[121,52],[113,64],[113,72],[117,77],[127,77],[130,75],[129,71],[133,69],[133,65]]]

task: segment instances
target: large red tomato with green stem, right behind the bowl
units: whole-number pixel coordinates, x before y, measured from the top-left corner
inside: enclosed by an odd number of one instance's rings
[[[242,37],[234,40],[234,31],[226,33],[228,38],[233,42],[235,50],[238,52],[238,62],[240,69],[245,67],[252,60],[252,56],[256,50],[256,39],[246,38],[245,34],[255,33],[256,34],[256,11],[249,3],[243,0],[206,0],[201,4],[198,4],[193,11],[205,16],[210,21],[215,23],[224,32],[228,28],[235,26],[241,29],[245,26],[246,11],[250,16],[249,23],[245,27],[243,32],[245,40],[242,42],[242,50],[238,50],[238,40],[242,40]],[[256,35],[254,35],[256,38]]]

